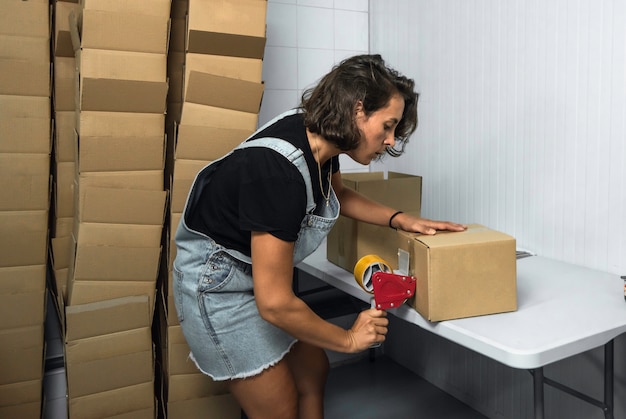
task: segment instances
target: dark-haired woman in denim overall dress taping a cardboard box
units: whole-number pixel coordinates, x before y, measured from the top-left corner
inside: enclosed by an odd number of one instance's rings
[[[324,349],[353,353],[385,340],[384,311],[365,310],[345,330],[292,291],[294,266],[340,212],[424,234],[465,228],[342,185],[339,154],[364,165],[402,154],[417,100],[413,80],[379,55],[355,56],[305,91],[299,108],[198,173],[176,232],[176,310],[191,358],[227,381],[250,419],[322,418]]]

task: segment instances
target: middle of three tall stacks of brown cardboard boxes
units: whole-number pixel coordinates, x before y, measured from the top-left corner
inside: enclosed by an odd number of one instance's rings
[[[57,29],[67,17],[74,54],[67,63],[60,55],[55,60],[59,70],[68,69],[56,78],[55,104],[66,104],[57,110],[74,116],[73,125],[67,121],[71,147],[57,152],[57,173],[68,177],[57,176],[57,190],[67,194],[57,194],[56,204],[57,224],[72,219],[61,293],[69,414],[153,418],[151,325],[167,195],[170,0],[56,6]],[[62,54],[67,48],[58,35]],[[74,109],[61,100],[69,86]],[[69,142],[57,134],[57,144]],[[59,170],[61,151],[68,151],[73,170]],[[73,211],[60,211],[66,207]],[[55,239],[60,237],[57,229]],[[60,258],[54,259],[61,274]],[[63,282],[57,281],[61,290]]]

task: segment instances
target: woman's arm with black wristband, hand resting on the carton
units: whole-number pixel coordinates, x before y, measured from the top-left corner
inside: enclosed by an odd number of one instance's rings
[[[434,221],[382,205],[360,193],[343,186],[341,172],[332,177],[333,189],[341,204],[341,214],[366,223],[389,226],[399,230],[422,234],[435,234],[437,230],[463,231],[467,226],[450,221]],[[392,218],[393,217],[393,218]]]

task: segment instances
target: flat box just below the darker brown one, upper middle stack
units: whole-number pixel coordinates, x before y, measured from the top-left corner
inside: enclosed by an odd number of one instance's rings
[[[137,112],[76,112],[76,132],[85,137],[158,137],[165,115]]]

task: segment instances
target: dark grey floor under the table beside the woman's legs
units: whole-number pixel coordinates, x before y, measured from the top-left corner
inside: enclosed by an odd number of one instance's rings
[[[384,356],[333,367],[325,419],[486,419]]]

